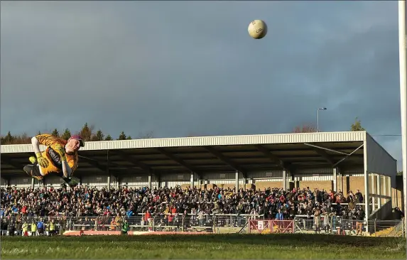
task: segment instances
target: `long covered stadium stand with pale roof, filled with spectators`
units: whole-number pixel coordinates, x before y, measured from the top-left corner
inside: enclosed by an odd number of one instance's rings
[[[21,210],[104,225],[128,213],[131,225],[146,215],[156,224],[178,215],[197,222],[228,214],[308,222],[329,215],[331,222],[362,216],[372,229],[369,221],[385,220],[402,202],[396,160],[365,131],[88,142],[75,190],[60,188],[57,176],[28,180],[21,169],[31,153],[30,145],[1,146],[8,222],[22,221]]]

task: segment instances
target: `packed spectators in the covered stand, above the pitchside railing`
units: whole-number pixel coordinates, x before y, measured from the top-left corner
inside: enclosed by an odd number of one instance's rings
[[[363,202],[362,193],[344,195],[332,190],[238,190],[214,188],[1,188],[1,218],[133,217],[136,215],[263,215],[293,219],[325,212],[352,217]]]

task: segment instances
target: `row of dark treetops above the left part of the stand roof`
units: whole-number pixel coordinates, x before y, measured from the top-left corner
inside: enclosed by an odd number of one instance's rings
[[[37,134],[41,134],[40,131],[38,131]],[[82,126],[82,129],[80,131],[74,131],[71,132],[70,129],[64,129],[63,131],[58,131],[58,129],[54,129],[53,131],[49,131],[47,133],[43,134],[51,134],[55,137],[59,137],[61,139],[69,139],[72,134],[79,134],[82,139],[85,141],[113,141],[113,140],[131,140],[131,136],[128,136],[124,133],[124,131],[121,131],[119,136],[114,139],[110,134],[104,134],[102,130],[94,130],[94,126],[89,126],[89,124],[85,123],[84,126]],[[148,131],[146,133],[140,133],[136,139],[151,139],[153,138],[153,131]],[[1,136],[1,144],[6,145],[6,144],[27,144],[31,143],[31,138],[32,136],[28,136],[28,134],[11,134],[9,131],[6,136]]]

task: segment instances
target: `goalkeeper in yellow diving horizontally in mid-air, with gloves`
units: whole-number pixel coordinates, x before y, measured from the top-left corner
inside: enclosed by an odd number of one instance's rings
[[[29,158],[33,164],[23,168],[28,175],[41,180],[53,173],[63,178],[70,186],[77,184],[72,180],[72,173],[77,169],[77,151],[85,146],[85,141],[80,136],[71,136],[65,141],[50,134],[39,134],[31,139],[31,143],[36,156]],[[40,144],[47,146],[45,151],[40,151]]]

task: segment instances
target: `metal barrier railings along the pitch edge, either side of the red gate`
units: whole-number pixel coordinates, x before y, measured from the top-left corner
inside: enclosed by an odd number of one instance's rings
[[[9,234],[10,226],[14,226],[16,234],[21,235],[21,225],[26,222],[26,231],[38,233],[31,229],[31,224],[38,221],[44,223],[44,232],[48,234],[53,221],[55,233],[63,234],[70,231],[120,231],[121,224],[126,220],[131,231],[163,231],[163,232],[248,232],[249,220],[264,220],[264,215],[183,215],[183,214],[158,214],[146,216],[144,214],[131,217],[114,216],[89,216],[89,217],[26,217],[20,221],[8,218],[1,220],[1,235]],[[6,223],[6,225],[5,225]],[[342,235],[357,235],[363,232],[374,237],[403,237],[406,229],[403,220],[347,220],[342,217],[330,216],[329,218],[306,215],[293,217],[295,233],[329,233]],[[366,224],[369,230],[366,229]]]

